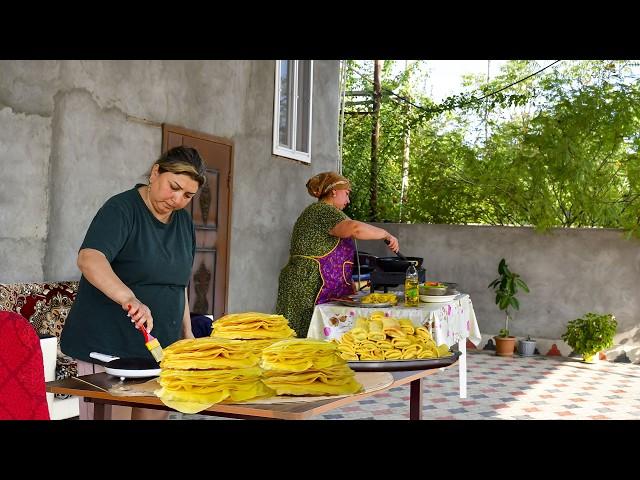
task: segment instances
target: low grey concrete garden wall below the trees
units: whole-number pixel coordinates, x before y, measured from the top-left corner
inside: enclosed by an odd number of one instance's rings
[[[541,234],[523,227],[378,225],[398,237],[401,253],[424,257],[428,280],[457,282],[460,291],[470,294],[483,337],[504,326],[504,313],[487,286],[505,258],[531,290],[518,296],[512,335],[555,340],[567,322],[587,312],[613,313],[615,343],[640,345],[640,242],[625,239],[619,230]],[[393,255],[381,241],[359,241],[358,246],[374,255]]]

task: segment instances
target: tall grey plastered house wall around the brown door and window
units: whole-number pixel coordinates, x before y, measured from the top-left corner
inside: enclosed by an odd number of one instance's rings
[[[229,311],[271,311],[313,174],[337,168],[337,61],[314,63],[312,163],[271,154],[274,61],[0,61],[0,282],[73,280],[93,215],[169,123],[234,143]]]

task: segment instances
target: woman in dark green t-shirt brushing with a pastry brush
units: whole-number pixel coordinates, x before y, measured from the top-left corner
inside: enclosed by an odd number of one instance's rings
[[[100,208],[78,253],[82,277],[60,338],[63,353],[80,362],[92,362],[91,352],[153,358],[141,328],[165,347],[193,338],[186,289],[195,230],[184,207],[205,181],[198,152],[172,148],[151,167],[148,185]],[[166,415],[132,412],[138,419]]]

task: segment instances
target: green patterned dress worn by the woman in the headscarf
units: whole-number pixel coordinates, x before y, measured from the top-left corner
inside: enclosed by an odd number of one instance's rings
[[[293,226],[289,261],[278,279],[276,313],[284,315],[299,338],[305,338],[313,309],[323,286],[319,262],[340,239],[329,230],[349,217],[333,205],[317,202],[303,210]]]

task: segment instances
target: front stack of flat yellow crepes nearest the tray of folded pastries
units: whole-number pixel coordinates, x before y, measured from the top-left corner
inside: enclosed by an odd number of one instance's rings
[[[343,348],[348,356],[349,344]],[[362,390],[334,342],[281,340],[263,350],[260,366],[262,381],[278,395],[349,395]]]

